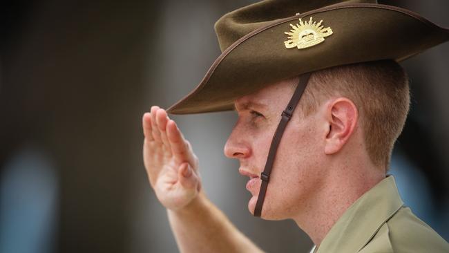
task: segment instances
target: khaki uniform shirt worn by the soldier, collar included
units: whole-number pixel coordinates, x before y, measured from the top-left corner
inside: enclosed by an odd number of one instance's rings
[[[448,253],[448,243],[405,207],[388,176],[348,208],[315,253]]]

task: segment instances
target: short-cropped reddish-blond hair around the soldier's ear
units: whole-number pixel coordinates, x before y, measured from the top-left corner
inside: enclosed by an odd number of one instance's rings
[[[393,60],[363,62],[312,73],[300,100],[303,115],[331,96],[352,100],[359,110],[367,153],[374,165],[388,170],[394,142],[410,107],[408,76]]]

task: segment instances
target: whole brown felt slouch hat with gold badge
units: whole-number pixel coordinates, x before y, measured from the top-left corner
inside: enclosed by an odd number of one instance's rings
[[[229,12],[216,23],[222,54],[173,114],[233,110],[238,97],[323,68],[394,59],[449,40],[410,10],[372,0],[267,0]]]

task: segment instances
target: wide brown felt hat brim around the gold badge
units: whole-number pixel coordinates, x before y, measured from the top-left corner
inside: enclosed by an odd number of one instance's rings
[[[333,34],[310,48],[285,48],[290,24],[323,20]],[[229,46],[173,114],[233,110],[238,97],[274,82],[323,68],[395,59],[397,62],[449,40],[442,28],[410,10],[373,3],[329,6],[279,19]]]

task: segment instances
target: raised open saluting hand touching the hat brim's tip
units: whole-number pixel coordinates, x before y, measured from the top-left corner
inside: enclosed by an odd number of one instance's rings
[[[164,109],[152,106],[142,118],[144,165],[151,187],[164,207],[181,209],[201,189],[198,158]]]

